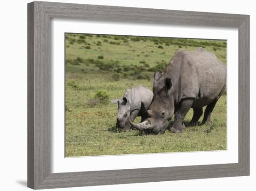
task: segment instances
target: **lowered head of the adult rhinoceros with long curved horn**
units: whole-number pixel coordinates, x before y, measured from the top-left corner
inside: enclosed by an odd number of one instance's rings
[[[174,114],[172,80],[161,72],[155,72],[153,93],[154,97],[148,108],[148,118],[139,124],[129,122],[139,130],[163,134]]]

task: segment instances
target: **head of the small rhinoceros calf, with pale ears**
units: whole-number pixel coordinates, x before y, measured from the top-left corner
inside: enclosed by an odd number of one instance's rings
[[[126,97],[120,100],[113,100],[112,103],[117,103],[118,109],[116,113],[116,126],[124,128],[128,123],[130,116],[130,103]]]

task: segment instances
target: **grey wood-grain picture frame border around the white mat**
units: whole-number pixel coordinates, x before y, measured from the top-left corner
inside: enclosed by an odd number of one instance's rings
[[[27,185],[33,189],[249,175],[249,15],[32,2],[28,4]],[[239,31],[239,161],[234,164],[51,173],[51,19],[235,27]],[[64,111],[63,111],[64,112]],[[64,143],[63,143],[64,144]]]

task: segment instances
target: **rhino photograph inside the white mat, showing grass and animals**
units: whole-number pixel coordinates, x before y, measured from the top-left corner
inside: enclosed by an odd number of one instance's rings
[[[65,156],[227,148],[226,40],[65,33]]]

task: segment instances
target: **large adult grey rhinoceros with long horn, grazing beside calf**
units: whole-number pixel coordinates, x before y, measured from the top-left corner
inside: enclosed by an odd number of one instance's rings
[[[171,132],[181,133],[183,120],[190,108],[194,115],[190,124],[197,124],[202,107],[207,106],[202,124],[210,121],[216,102],[226,88],[226,66],[212,52],[203,48],[177,51],[166,70],[155,72],[153,101],[148,119],[131,125],[153,134],[163,134],[175,115]]]

